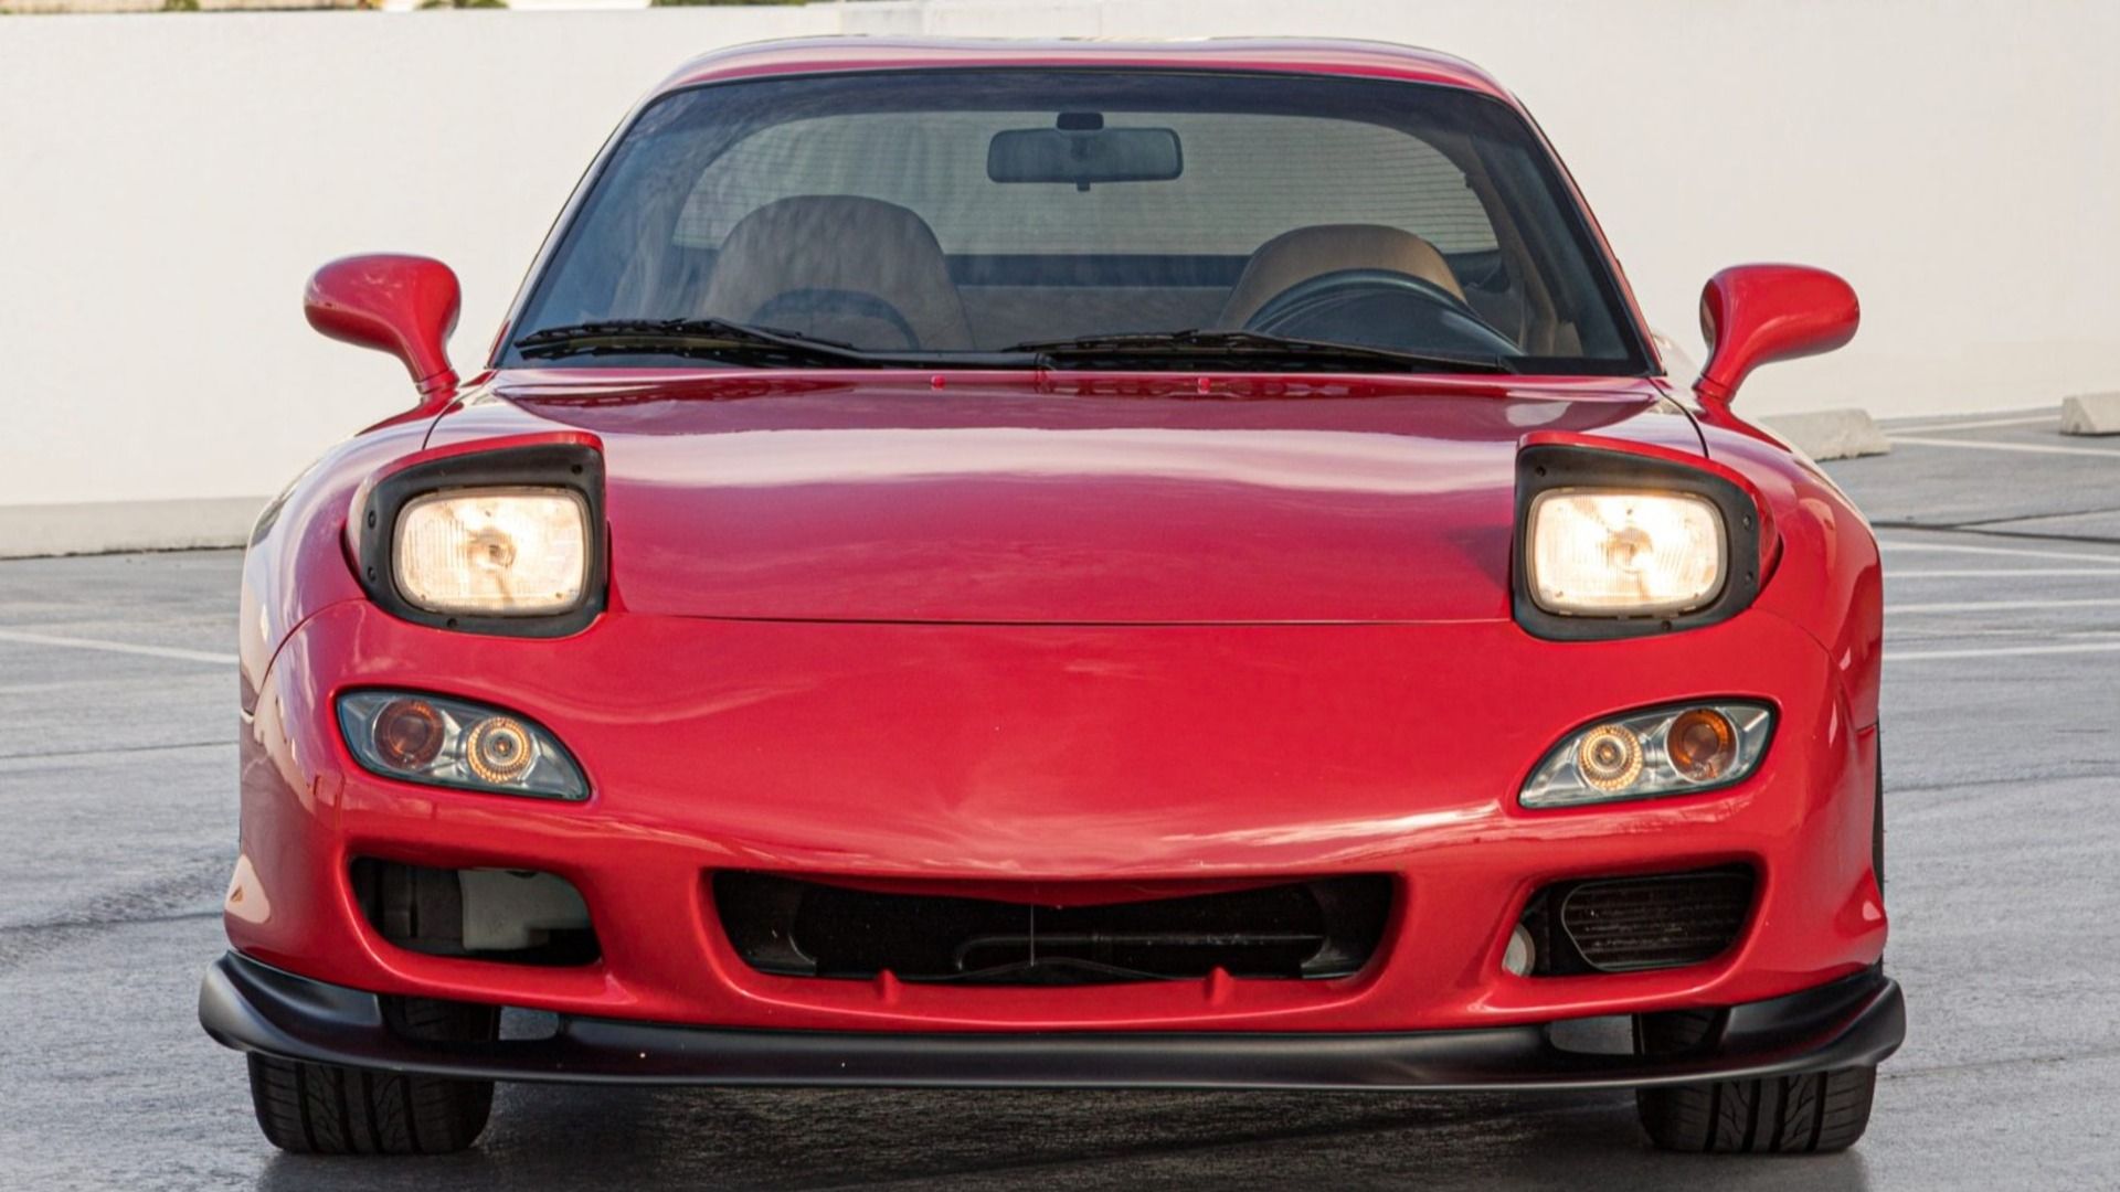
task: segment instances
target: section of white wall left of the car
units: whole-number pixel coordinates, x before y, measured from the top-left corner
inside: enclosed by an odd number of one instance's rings
[[[13,17],[0,30],[0,507],[278,492],[411,405],[301,316],[346,252],[441,257],[483,358],[545,229],[697,51],[829,8]]]

